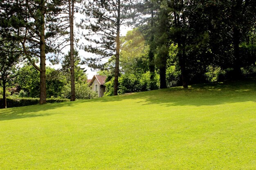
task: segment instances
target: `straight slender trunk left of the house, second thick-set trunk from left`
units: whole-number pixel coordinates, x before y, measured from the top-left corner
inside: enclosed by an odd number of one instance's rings
[[[69,22],[70,22],[70,79],[71,79],[71,98],[70,101],[75,101],[75,70],[74,70],[74,0],[69,5]]]

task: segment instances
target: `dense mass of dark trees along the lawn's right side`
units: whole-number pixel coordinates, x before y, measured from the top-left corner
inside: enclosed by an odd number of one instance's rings
[[[204,79],[202,75],[209,65],[231,68],[230,78],[241,77],[241,67],[256,62],[255,9],[255,0],[141,2],[138,21],[144,22],[139,28],[150,46],[151,75],[155,69],[159,71],[160,88],[166,88],[171,44],[177,45],[175,62],[184,88]],[[146,20],[141,19],[143,16],[147,16]]]

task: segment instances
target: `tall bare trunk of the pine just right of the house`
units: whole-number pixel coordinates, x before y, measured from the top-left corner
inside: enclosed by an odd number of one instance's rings
[[[114,81],[114,95],[117,95],[118,90],[118,75],[119,75],[119,53],[120,53],[120,0],[118,0],[117,9],[117,47],[116,47],[116,63],[115,63],[115,81]]]

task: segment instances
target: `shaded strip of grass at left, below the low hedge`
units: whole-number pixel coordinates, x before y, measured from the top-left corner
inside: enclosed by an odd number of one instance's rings
[[[43,104],[43,105],[36,104],[36,105],[22,106],[22,107],[16,107],[16,108],[0,109],[0,121],[11,120],[11,119],[22,119],[22,118],[29,118],[29,117],[50,116],[55,113],[53,112],[47,113],[44,111],[60,108],[60,107],[76,106],[79,103],[81,103],[81,101]]]

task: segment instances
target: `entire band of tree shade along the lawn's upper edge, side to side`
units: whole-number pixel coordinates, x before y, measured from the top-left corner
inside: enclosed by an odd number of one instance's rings
[[[157,104],[162,106],[213,106],[236,102],[256,102],[256,78],[243,81],[195,84],[188,89],[182,87],[166,88],[155,91],[130,93],[119,96],[110,96],[90,100],[78,100],[45,105],[32,105],[19,108],[0,109],[0,121],[22,119],[28,117],[44,117],[54,113],[41,112],[61,107],[73,107],[80,104],[94,102],[119,102],[138,100],[138,105]],[[118,103],[117,103],[118,104]],[[88,108],[89,109],[89,108]],[[127,108],[129,109],[129,108]],[[58,113],[60,114],[60,113]]]

